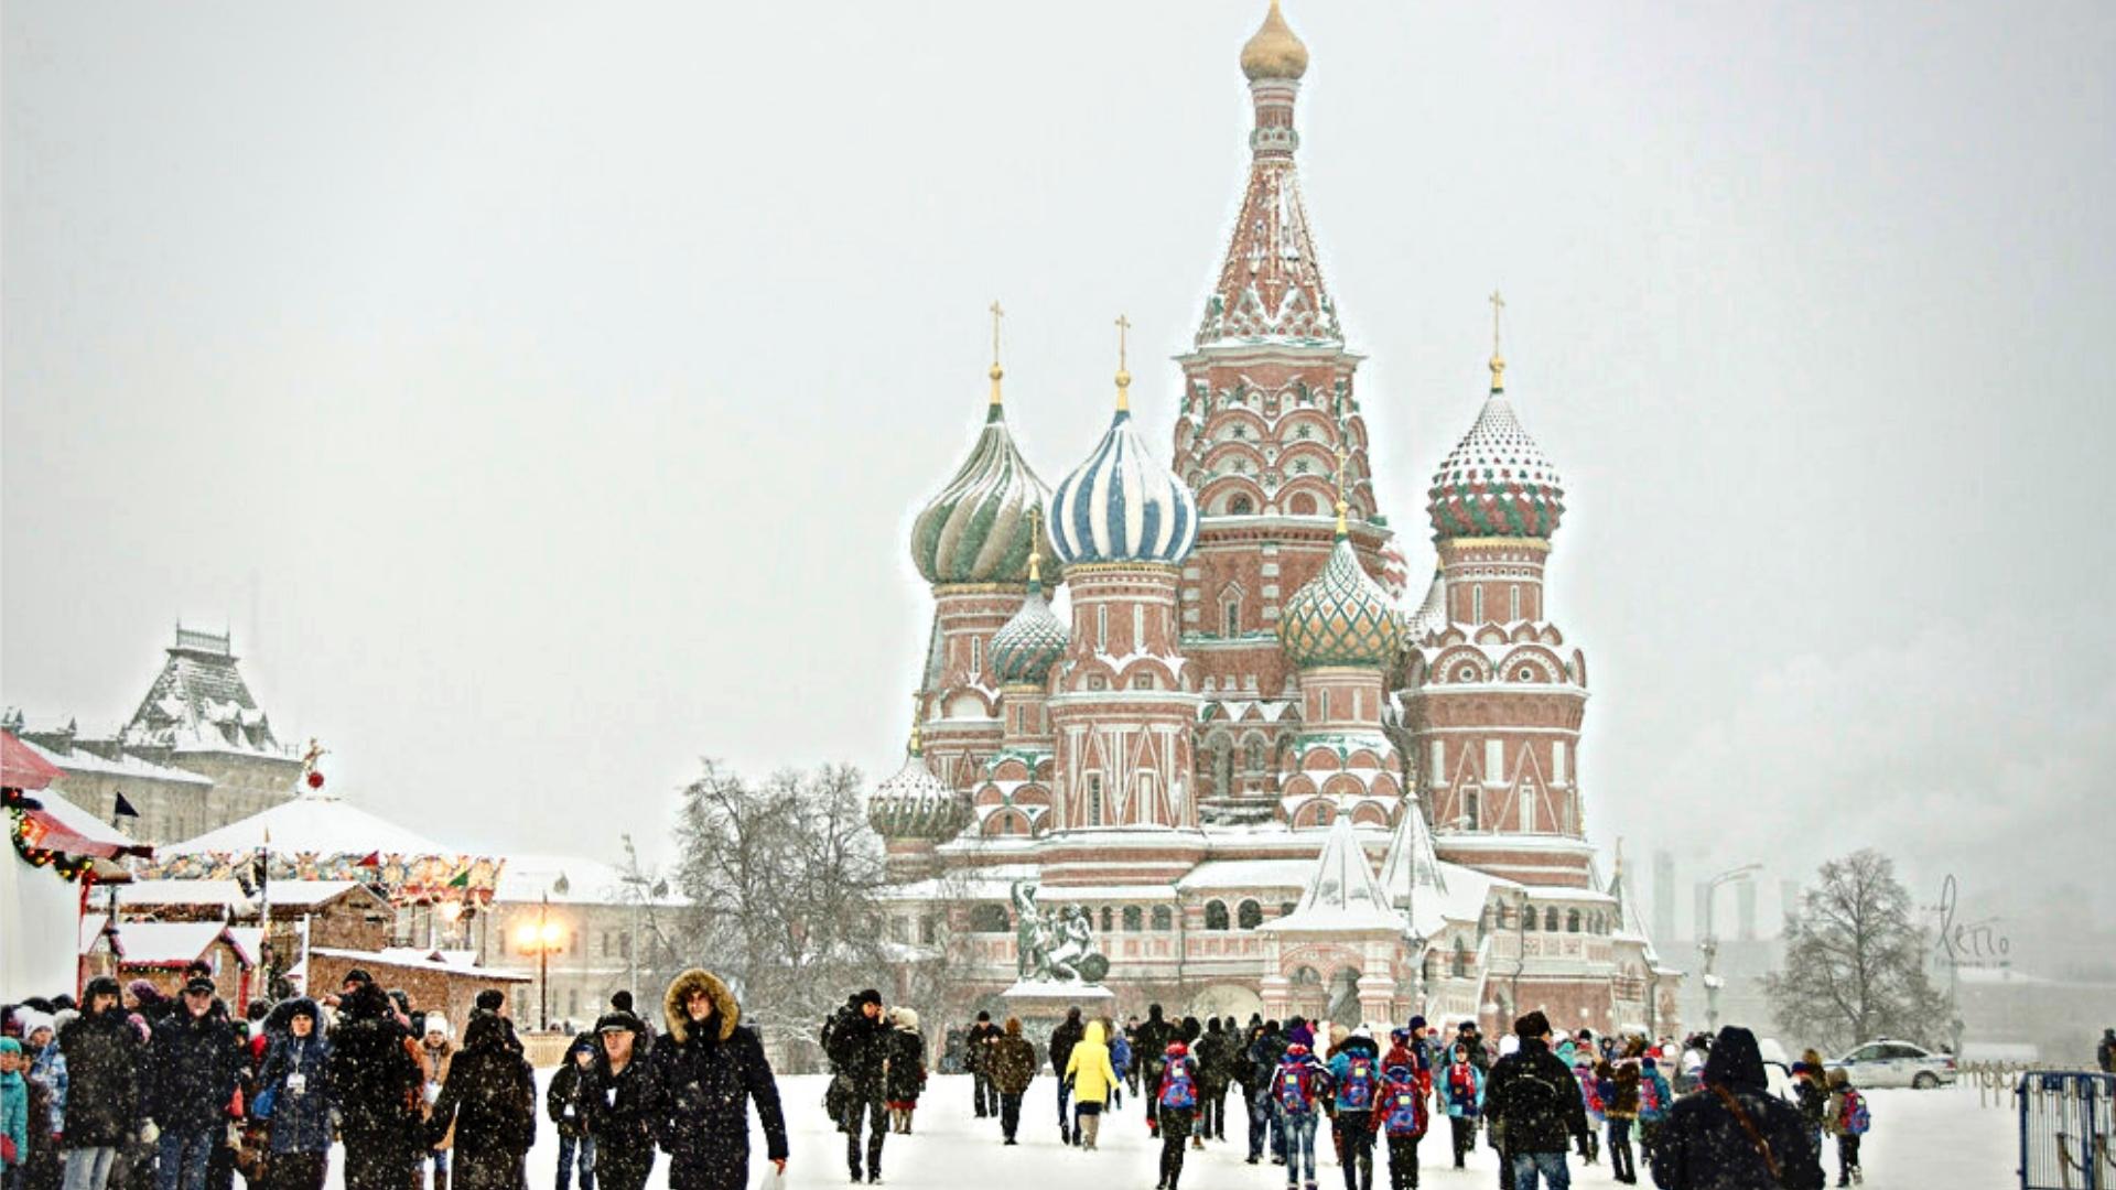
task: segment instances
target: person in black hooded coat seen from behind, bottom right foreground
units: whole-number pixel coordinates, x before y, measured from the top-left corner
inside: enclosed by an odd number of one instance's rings
[[[1496,1074],[1494,1074],[1496,1078]],[[1653,1152],[1661,1190],[1820,1190],[1822,1146],[1801,1110],[1771,1095],[1756,1033],[1720,1029],[1703,1090],[1667,1110]]]

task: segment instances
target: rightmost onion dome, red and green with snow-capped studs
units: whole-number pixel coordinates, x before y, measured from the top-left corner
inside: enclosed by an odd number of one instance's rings
[[[1477,423],[1433,472],[1433,538],[1549,538],[1564,515],[1564,485],[1543,447],[1513,415],[1507,360],[1492,356],[1492,396]]]

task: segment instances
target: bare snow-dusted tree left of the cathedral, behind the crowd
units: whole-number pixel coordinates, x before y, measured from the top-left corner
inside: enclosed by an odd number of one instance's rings
[[[686,961],[726,978],[781,1052],[813,1042],[846,993],[887,976],[882,858],[859,783],[844,764],[749,783],[707,760],[677,811]]]

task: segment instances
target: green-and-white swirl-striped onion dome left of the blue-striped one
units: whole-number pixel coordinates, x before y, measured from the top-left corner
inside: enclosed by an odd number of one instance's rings
[[[1028,576],[1030,517],[1050,489],[1028,470],[999,400],[992,400],[978,445],[912,521],[912,563],[927,582],[1022,582]]]

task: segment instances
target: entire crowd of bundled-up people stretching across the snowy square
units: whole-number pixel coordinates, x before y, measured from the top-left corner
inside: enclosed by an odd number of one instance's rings
[[[662,1027],[616,993],[576,1035],[542,1103],[501,993],[461,1023],[353,970],[328,995],[252,1002],[237,1016],[207,970],[180,993],[87,982],[80,1002],[32,999],[0,1035],[0,1190],[322,1190],[343,1152],[347,1190],[525,1190],[540,1116],[559,1139],[557,1190],[641,1190],[660,1156],[673,1190],[738,1190],[749,1114],[779,1175],[787,1126],[779,1086],[728,985],[677,976]],[[1378,1035],[1386,1033],[1386,1035]],[[844,1133],[851,1179],[880,1184],[889,1135],[910,1135],[927,1086],[918,1014],[874,989],[849,995],[817,1033],[829,1061],[825,1110]],[[2116,1033],[2097,1054],[2116,1063]],[[1640,1169],[1665,1190],[1858,1184],[1871,1110],[1845,1069],[1816,1050],[1771,1093],[1756,1038],[1555,1033],[1543,1012],[1490,1044],[1477,1023],[1344,1027],[1293,1016],[1088,1018],[1073,1008],[1039,1046],[1020,1018],[980,1012],[961,1031],[978,1118],[1020,1143],[1022,1103],[1047,1067],[1058,1139],[1094,1152],[1126,1097],[1157,1141],[1157,1190],[1181,1190],[1185,1152],[1232,1143],[1248,1165],[1316,1190],[1318,1146],[1346,1190],[1418,1186],[1420,1143],[1445,1120],[1456,1169],[1481,1143],[1500,1190],[1570,1186],[1570,1162],[1606,1158],[1619,1184]],[[542,1112],[540,1112],[542,1107]],[[1236,1150],[1242,1152],[1242,1150]]]

